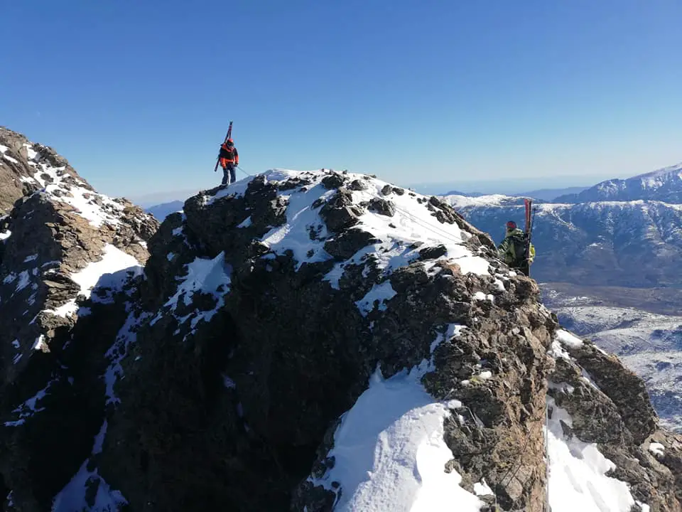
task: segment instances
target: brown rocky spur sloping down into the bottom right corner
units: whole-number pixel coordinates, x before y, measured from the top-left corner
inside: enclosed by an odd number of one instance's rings
[[[627,482],[636,500],[651,510],[679,510],[682,437],[658,429],[646,394],[643,400],[642,381],[615,356],[590,341],[568,337],[573,341],[561,343],[563,355],[553,349],[556,369],[549,393],[558,407],[570,412],[573,425],[566,427],[570,435],[596,442],[616,466],[608,475]],[[665,447],[659,459],[647,449],[654,441]]]

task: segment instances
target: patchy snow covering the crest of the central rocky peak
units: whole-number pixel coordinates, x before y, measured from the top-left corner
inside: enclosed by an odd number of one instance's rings
[[[304,180],[309,183],[303,188],[278,191],[278,196],[286,201],[287,222],[273,228],[261,241],[270,248],[272,254],[293,251],[299,268],[305,262],[331,260],[332,256],[325,251],[324,245],[332,234],[328,232],[319,215],[324,201],[334,196],[336,191],[325,188],[322,183],[325,174],[319,171],[274,169],[261,176],[266,181]],[[369,179],[362,174],[347,173],[343,176],[366,186],[364,190],[351,191],[354,204],[371,204],[372,201],[386,198],[382,191],[390,187],[389,183],[377,178]],[[244,178],[215,196],[205,196],[205,204],[210,205],[226,196],[242,196],[251,180],[252,178]],[[445,246],[445,255],[441,259],[455,261],[463,274],[488,273],[487,260],[472,254],[463,245],[471,235],[461,230],[457,224],[441,223],[435,218],[433,211],[427,207],[428,197],[412,192],[391,193],[390,200],[394,203],[394,215],[377,213],[371,208],[359,215],[359,223],[354,228],[362,228],[381,242],[367,245],[352,257],[337,263],[325,277],[333,287],[338,287],[344,267],[349,264],[359,264],[372,257],[377,260],[381,270],[389,273],[416,260],[419,250],[437,245]],[[315,233],[312,240],[311,230]]]

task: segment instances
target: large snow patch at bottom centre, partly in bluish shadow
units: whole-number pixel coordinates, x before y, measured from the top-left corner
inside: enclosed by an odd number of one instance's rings
[[[335,511],[474,512],[482,501],[460,487],[461,476],[445,472],[453,453],[443,441],[450,407],[437,402],[420,379],[423,366],[384,380],[372,375],[369,388],[342,416],[328,456],[335,465],[315,485],[337,491]]]

